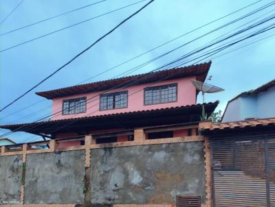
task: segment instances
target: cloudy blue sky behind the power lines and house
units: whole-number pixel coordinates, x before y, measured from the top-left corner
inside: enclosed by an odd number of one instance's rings
[[[0,1],[0,21],[9,14],[9,12],[21,0],[1,0]],[[40,21],[56,14],[61,14],[75,8],[93,3],[99,0],[24,0],[21,5],[0,25],[0,34],[17,29],[24,25]],[[21,29],[17,32],[0,36],[0,50],[17,45],[26,40],[36,38],[43,34],[53,32],[68,25],[78,23],[93,16],[98,16],[105,12],[115,10],[124,5],[129,5],[137,1],[107,0],[102,3],[90,6],[83,10],[78,10],[61,16],[50,21],[45,21],[38,25]],[[46,36],[39,40],[34,40],[28,44],[9,49],[0,53],[0,106],[1,108],[10,103],[13,99],[24,93],[26,90],[34,86],[44,77],[52,73],[59,66],[67,62],[70,58],[85,49],[91,42],[108,32],[109,29],[120,23],[127,16],[142,7],[148,1],[137,3],[129,8],[124,8],[117,12],[101,16],[98,19],[87,21],[86,23],[70,27],[61,32],[57,32],[50,36]],[[21,123],[35,121],[39,117],[50,113],[51,101],[45,100],[36,105],[21,110],[8,117],[7,115],[16,112],[25,106],[29,106],[36,101],[42,100],[43,97],[35,95],[37,91],[51,90],[65,86],[79,84],[83,80],[92,77],[100,71],[109,69],[111,66],[120,64],[125,60],[152,49],[164,42],[176,38],[181,34],[189,32],[203,24],[214,21],[225,14],[234,12],[245,5],[249,5],[255,1],[238,1],[238,0],[155,0],[140,14],[134,16],[126,24],[122,25],[118,30],[113,32],[107,38],[104,38],[98,45],[87,51],[83,56],[66,66],[65,69],[54,75],[35,88],[31,93],[23,97],[10,108],[0,113],[0,124]],[[160,47],[159,49],[147,53],[134,61],[124,64],[123,66],[113,69],[104,75],[100,75],[89,82],[105,80],[116,75],[120,75],[123,71],[131,69],[147,60],[151,60],[166,51],[184,44],[201,34],[209,32],[211,29],[219,27],[243,14],[251,12],[256,8],[270,3],[271,1],[263,0],[249,8],[242,10],[234,15],[228,16],[221,21],[217,21],[207,27],[197,30],[187,36],[183,36],[178,40],[170,42],[170,44]],[[148,64],[142,69],[135,71],[133,74],[145,73],[155,69],[169,60],[173,60],[180,55],[188,53],[192,49],[201,47],[210,40],[230,32],[232,29],[248,23],[256,17],[267,17],[274,14],[275,6],[273,5],[262,12],[259,12],[248,19],[244,19],[230,27],[221,29],[218,32],[192,42],[186,47],[171,53],[152,64]],[[275,34],[273,30],[261,37]],[[259,38],[261,38],[259,37]],[[256,39],[254,39],[256,40]],[[249,42],[249,41],[248,41]],[[246,42],[246,43],[248,43]],[[236,47],[241,47],[244,43],[240,43]],[[236,48],[234,47],[234,48]],[[232,49],[234,49],[232,48]],[[212,75],[210,84],[224,88],[225,91],[218,94],[206,95],[206,101],[219,100],[218,109],[223,110],[229,99],[239,93],[256,88],[269,82],[275,77],[275,38],[274,36],[256,42],[254,45],[243,47],[225,56],[214,58],[210,68],[209,75]],[[230,49],[228,49],[230,51]],[[219,53],[221,54],[221,53]],[[211,60],[208,58],[205,61]],[[191,62],[192,64],[194,62]],[[201,95],[198,102],[201,101]],[[41,110],[43,109],[43,110]],[[39,112],[36,112],[40,110]],[[36,113],[34,113],[36,112]],[[31,114],[32,113],[32,114]],[[31,114],[29,117],[21,118]],[[8,130],[0,130],[3,134]],[[15,133],[8,136],[14,141],[23,142],[35,138],[32,134]]]

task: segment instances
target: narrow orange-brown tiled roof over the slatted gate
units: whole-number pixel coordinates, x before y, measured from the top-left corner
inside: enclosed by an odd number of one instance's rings
[[[236,130],[248,127],[259,127],[259,126],[275,126],[275,118],[270,119],[253,119],[250,121],[232,121],[227,123],[214,123],[210,125],[205,125],[200,128],[202,131],[219,131],[219,130]]]

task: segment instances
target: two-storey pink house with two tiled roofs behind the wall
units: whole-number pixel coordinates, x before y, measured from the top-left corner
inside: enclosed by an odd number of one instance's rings
[[[218,104],[196,104],[199,91],[191,83],[204,82],[210,64],[39,92],[52,99],[50,121],[1,127],[58,139],[59,147],[83,145],[87,134],[95,143],[133,141],[135,129],[146,139],[196,135],[202,106],[211,114]]]

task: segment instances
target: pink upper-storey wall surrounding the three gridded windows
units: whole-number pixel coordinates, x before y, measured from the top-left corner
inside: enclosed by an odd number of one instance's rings
[[[121,109],[115,109],[115,110],[102,110],[102,111],[99,110],[99,96],[97,95],[103,93],[104,91],[56,98],[56,99],[53,99],[53,108],[52,108],[53,113],[62,110],[63,99],[73,99],[77,97],[87,97],[87,110],[85,113],[80,113],[80,114],[63,115],[62,113],[58,113],[57,115],[52,117],[52,120],[96,116],[96,115],[102,115],[102,114],[114,114],[114,113],[120,113],[120,112],[133,112],[137,110],[151,110],[156,108],[167,108],[167,107],[173,107],[173,106],[192,105],[196,103],[196,89],[192,85],[190,80],[194,80],[194,79],[195,77],[184,77],[184,78],[175,79],[175,80],[167,80],[167,81],[159,82],[155,84],[142,84],[137,86],[131,86],[129,88],[120,88],[120,89],[110,90],[108,91],[108,93],[128,90],[128,96],[129,96],[128,108],[121,108]],[[174,83],[177,83],[177,91],[178,91],[177,102],[160,103],[155,105],[144,106],[143,88],[146,88],[148,86],[161,86],[164,84],[174,84]]]

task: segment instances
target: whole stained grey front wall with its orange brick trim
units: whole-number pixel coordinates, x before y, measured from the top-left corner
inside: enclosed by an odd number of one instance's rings
[[[203,137],[85,143],[1,154],[0,205],[174,206],[175,195],[206,204]]]

